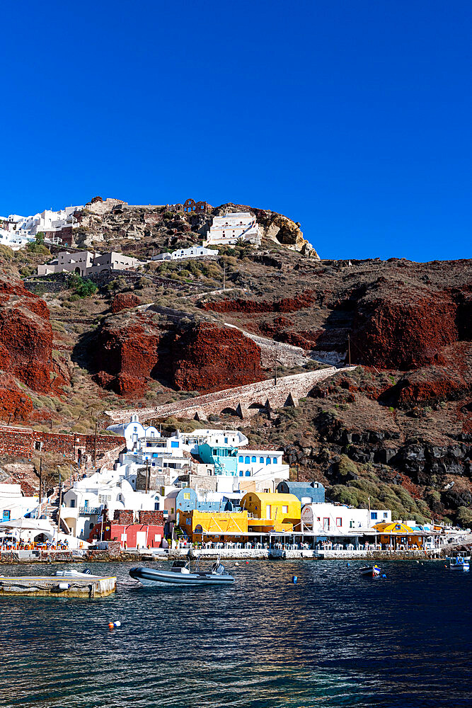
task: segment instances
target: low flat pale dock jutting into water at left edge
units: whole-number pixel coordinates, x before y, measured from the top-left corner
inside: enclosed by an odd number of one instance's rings
[[[28,595],[67,598],[105,598],[116,590],[116,578],[88,576],[0,576],[0,595]]]

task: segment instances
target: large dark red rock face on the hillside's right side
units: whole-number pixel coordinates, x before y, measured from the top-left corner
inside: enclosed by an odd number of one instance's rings
[[[458,339],[457,305],[446,293],[379,292],[362,298],[352,324],[357,362],[410,370],[444,364],[442,348]]]

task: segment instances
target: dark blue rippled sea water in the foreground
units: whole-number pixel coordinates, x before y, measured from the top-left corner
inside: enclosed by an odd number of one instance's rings
[[[358,561],[226,561],[234,586],[200,589],[138,588],[132,565],[89,566],[117,576],[109,598],[0,598],[1,706],[472,704],[472,578],[444,562],[386,562],[373,580]]]

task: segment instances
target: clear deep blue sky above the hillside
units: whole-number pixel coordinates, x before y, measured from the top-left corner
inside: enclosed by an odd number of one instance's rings
[[[192,197],[325,258],[471,257],[472,4],[9,3],[0,215]]]

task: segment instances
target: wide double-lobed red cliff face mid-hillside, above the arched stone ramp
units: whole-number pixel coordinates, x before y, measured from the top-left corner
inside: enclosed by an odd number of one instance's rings
[[[93,352],[95,381],[125,396],[143,394],[151,379],[209,393],[265,378],[259,347],[237,329],[175,324],[142,312],[108,317],[93,338]]]

